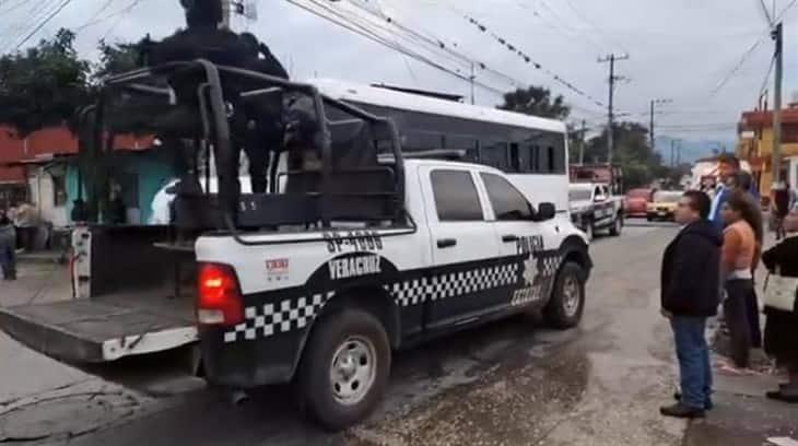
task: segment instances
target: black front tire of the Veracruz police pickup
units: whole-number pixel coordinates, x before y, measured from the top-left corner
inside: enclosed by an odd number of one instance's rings
[[[575,281],[578,300],[576,306],[572,302],[573,297],[566,296],[565,284],[572,285],[571,280]],[[543,317],[547,322],[554,328],[564,330],[576,327],[582,320],[582,314],[585,310],[585,271],[575,262],[568,261],[564,263],[558,272],[554,287],[551,292],[551,300],[543,310]]]

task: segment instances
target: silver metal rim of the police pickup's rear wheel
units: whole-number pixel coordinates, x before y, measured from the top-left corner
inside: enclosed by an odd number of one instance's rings
[[[353,406],[363,400],[377,375],[374,343],[362,337],[350,337],[339,345],[330,363],[332,395],[341,404]]]

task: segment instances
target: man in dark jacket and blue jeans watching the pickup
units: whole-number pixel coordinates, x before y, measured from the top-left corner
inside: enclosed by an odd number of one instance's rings
[[[684,192],[676,210],[676,221],[683,227],[662,257],[662,315],[673,328],[681,375],[679,402],[660,409],[668,416],[701,418],[712,408],[712,365],[704,330],[720,302],[723,235],[707,220],[711,207],[706,193]]]

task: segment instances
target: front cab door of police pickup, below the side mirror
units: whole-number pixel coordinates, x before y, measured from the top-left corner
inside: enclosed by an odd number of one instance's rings
[[[551,236],[558,231],[554,223],[536,221],[535,208],[504,176],[483,172],[480,178],[503,261],[515,265],[517,270],[517,281],[502,290],[503,306],[511,309],[543,304],[558,268]]]

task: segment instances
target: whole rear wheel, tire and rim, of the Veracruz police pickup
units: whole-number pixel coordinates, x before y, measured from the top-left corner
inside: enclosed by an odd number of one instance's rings
[[[300,371],[309,413],[330,431],[349,427],[374,410],[388,385],[390,344],[371,313],[345,309],[319,320]]]

